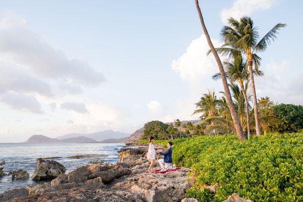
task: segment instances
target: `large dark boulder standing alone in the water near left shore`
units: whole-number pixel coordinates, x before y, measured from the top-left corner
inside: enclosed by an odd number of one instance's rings
[[[37,168],[34,170],[33,180],[54,179],[66,171],[65,167],[56,161],[43,159],[36,161]]]

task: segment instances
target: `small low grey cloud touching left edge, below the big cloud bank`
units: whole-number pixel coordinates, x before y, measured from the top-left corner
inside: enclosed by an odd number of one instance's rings
[[[34,114],[43,114],[41,104],[37,99],[23,93],[7,92],[0,95],[0,102],[5,103],[15,110],[24,110]]]

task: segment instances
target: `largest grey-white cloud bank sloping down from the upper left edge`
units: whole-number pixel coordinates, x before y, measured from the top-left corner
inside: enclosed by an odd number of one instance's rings
[[[44,78],[85,85],[105,81],[102,73],[78,59],[68,59],[14,14],[0,21],[0,53]]]

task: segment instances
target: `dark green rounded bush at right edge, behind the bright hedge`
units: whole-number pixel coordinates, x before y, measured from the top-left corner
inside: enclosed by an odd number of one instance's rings
[[[303,106],[301,105],[275,105],[273,113],[281,121],[272,125],[272,130],[277,132],[296,132],[303,128]]]

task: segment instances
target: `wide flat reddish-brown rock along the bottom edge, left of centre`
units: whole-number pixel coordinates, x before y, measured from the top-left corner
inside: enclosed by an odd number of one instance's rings
[[[30,197],[18,198],[10,202],[63,202],[63,201],[111,201],[111,202],[143,202],[138,194],[126,191],[108,191],[105,189],[89,189],[77,187],[53,192],[44,192]]]

